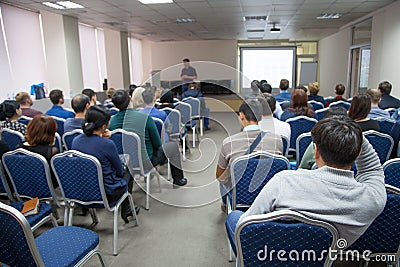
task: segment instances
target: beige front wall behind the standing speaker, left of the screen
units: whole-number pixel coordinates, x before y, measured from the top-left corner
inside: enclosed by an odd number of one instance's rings
[[[200,80],[234,79],[236,51],[235,40],[143,41],[143,80],[149,78],[152,70],[162,70],[161,80],[180,80],[184,58],[190,58]]]

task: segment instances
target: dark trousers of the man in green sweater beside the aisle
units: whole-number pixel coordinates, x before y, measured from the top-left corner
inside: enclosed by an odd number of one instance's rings
[[[150,159],[152,166],[163,165],[170,160],[171,174],[174,181],[179,181],[183,178],[181,154],[178,143],[167,142],[162,147],[154,150],[153,156]],[[152,166],[149,166],[150,168]],[[146,166],[146,169],[147,166]]]

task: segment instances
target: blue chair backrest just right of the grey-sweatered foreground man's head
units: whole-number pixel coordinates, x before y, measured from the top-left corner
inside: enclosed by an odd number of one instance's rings
[[[366,131],[363,134],[375,149],[381,164],[385,163],[389,159],[390,153],[392,153],[393,138],[390,135],[373,130]]]

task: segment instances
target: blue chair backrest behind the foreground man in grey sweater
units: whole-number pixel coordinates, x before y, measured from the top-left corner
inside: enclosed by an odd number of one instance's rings
[[[326,252],[336,248],[337,238],[338,232],[333,225],[295,211],[249,216],[236,226],[237,262],[239,266],[251,267],[330,266]],[[283,257],[287,260],[283,263],[277,253],[271,254],[272,250],[285,251]],[[298,254],[289,257],[292,251]]]

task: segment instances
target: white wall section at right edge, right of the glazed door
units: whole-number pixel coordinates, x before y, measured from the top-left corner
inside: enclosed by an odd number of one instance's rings
[[[400,97],[400,2],[385,8],[372,19],[369,87],[390,81],[392,95]]]

